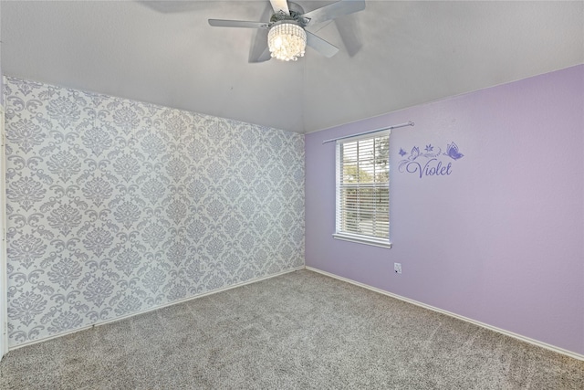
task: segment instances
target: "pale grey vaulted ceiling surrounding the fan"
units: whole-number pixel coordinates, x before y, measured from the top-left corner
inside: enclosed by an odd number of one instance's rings
[[[268,7],[3,1],[2,70],[305,133],[584,63],[582,1],[368,1],[313,29],[336,56],[308,47],[297,62],[248,63],[255,30],[207,23],[265,21]]]

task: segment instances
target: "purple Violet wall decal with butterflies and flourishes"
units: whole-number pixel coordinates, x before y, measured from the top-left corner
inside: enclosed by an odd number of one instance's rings
[[[421,179],[424,176],[448,176],[452,174],[453,161],[464,157],[455,142],[448,143],[444,153],[442,148],[428,143],[423,148],[423,152],[418,146],[414,146],[409,154],[400,148],[400,155],[403,160],[400,161],[398,170],[401,173],[418,174]]]

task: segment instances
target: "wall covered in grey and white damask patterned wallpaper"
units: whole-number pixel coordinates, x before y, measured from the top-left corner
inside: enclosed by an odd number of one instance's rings
[[[304,264],[304,136],[5,78],[10,346]]]

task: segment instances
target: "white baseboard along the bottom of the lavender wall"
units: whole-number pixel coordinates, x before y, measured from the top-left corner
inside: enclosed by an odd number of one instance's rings
[[[367,290],[379,292],[380,294],[387,295],[388,297],[395,298],[396,300],[403,300],[405,302],[412,303],[413,305],[420,306],[420,307],[422,307],[424,309],[428,309],[428,310],[431,310],[431,311],[437,311],[439,313],[446,314],[446,315],[448,315],[450,317],[454,317],[454,318],[456,318],[458,320],[462,320],[462,321],[466,321],[466,322],[473,323],[474,325],[480,326],[480,327],[485,328],[485,329],[488,329],[490,331],[497,332],[497,333],[501,333],[501,334],[505,334],[506,336],[513,337],[514,339],[520,340],[522,342],[530,343],[530,344],[536,345],[536,346],[541,347],[541,348],[546,348],[547,350],[553,351],[555,353],[561,353],[561,354],[567,355],[567,356],[569,356],[571,358],[584,361],[584,354],[575,353],[575,352],[572,352],[572,351],[565,350],[563,348],[559,348],[559,347],[557,347],[555,345],[551,345],[551,344],[548,344],[548,343],[543,343],[543,342],[537,341],[535,339],[531,339],[529,337],[523,336],[521,334],[517,334],[517,333],[514,333],[514,332],[509,332],[509,331],[506,331],[505,329],[497,328],[496,326],[489,325],[489,324],[487,324],[485,322],[475,321],[475,320],[473,320],[471,318],[464,317],[462,315],[456,314],[456,313],[451,312],[451,311],[444,311],[442,309],[433,307],[431,305],[427,305],[427,304],[422,303],[422,302],[419,302],[417,300],[411,300],[409,298],[402,297],[401,295],[393,294],[393,293],[391,293],[389,291],[381,290],[381,289],[378,289],[376,287],[372,287],[370,285],[367,285],[367,284],[364,284],[364,283],[360,283],[359,281],[355,281],[355,280],[352,280],[352,279],[343,278],[343,277],[340,277],[339,275],[335,275],[335,274],[329,273],[327,271],[323,271],[321,269],[315,269],[315,268],[312,268],[312,267],[306,267],[306,269],[311,270],[313,272],[318,272],[319,274],[328,276],[330,278],[334,278],[334,279],[339,279],[339,280],[342,280],[342,281],[346,281],[346,282],[348,282],[350,284],[354,284],[355,286],[359,286],[359,287],[362,287],[362,288],[367,289]]]

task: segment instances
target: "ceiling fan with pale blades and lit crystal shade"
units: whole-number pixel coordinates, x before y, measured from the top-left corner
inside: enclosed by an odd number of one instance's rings
[[[323,56],[334,56],[339,48],[307,30],[308,27],[349,15],[365,9],[363,0],[340,0],[322,6],[305,14],[304,9],[287,0],[270,0],[274,14],[269,22],[246,22],[243,20],[209,19],[209,25],[216,27],[258,28],[266,32],[264,47],[253,62],[263,62],[270,58],[296,61],[303,57],[307,45]]]

